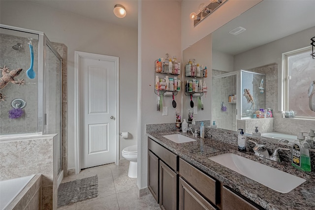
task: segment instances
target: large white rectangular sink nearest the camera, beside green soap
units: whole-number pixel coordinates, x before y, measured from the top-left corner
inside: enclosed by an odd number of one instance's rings
[[[220,154],[209,159],[281,193],[288,193],[306,181],[233,153]]]

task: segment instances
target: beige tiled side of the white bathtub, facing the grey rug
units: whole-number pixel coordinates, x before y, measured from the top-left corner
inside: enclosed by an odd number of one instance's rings
[[[40,210],[41,175],[37,174],[11,202],[7,210]]]

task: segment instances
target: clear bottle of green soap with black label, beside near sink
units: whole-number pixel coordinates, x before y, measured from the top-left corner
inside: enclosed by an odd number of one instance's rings
[[[310,145],[305,141],[304,132],[297,135],[292,144],[292,166],[302,171],[311,171]]]

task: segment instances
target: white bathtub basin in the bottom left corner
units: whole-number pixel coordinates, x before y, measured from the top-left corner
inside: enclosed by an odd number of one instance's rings
[[[5,210],[34,177],[35,175],[30,175],[11,180],[1,180],[0,210]]]

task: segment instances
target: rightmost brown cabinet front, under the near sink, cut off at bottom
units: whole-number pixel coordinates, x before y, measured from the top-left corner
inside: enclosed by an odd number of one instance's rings
[[[241,196],[232,192],[225,186],[222,187],[222,209],[223,210],[264,210],[258,205],[252,204]]]

